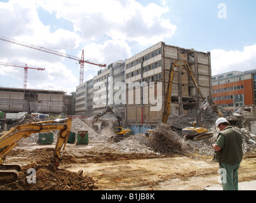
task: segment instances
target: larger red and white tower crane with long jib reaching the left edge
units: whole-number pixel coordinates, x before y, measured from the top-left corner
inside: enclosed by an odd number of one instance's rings
[[[106,67],[107,66],[105,64],[102,65],[102,64],[98,64],[98,63],[89,62],[88,60],[84,60],[84,50],[82,52],[81,58],[79,58],[77,56],[68,55],[66,53],[61,53],[61,52],[54,51],[54,50],[51,50],[51,49],[48,49],[48,48],[43,48],[41,46],[36,46],[36,45],[33,45],[33,44],[23,43],[23,42],[15,40],[15,39],[11,39],[9,37],[0,36],[0,40],[6,41],[8,43],[18,44],[20,46],[25,46],[27,48],[36,49],[38,51],[44,51],[46,53],[51,53],[53,55],[62,56],[62,57],[65,57],[65,58],[70,58],[72,60],[78,61],[79,64],[80,64],[80,81],[79,81],[80,83],[79,84],[82,84],[83,80],[84,80],[84,63],[90,63],[92,65],[97,65],[99,67]]]

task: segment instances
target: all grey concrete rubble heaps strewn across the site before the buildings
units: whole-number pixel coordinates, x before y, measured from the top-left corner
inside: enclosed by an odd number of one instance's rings
[[[182,150],[177,150],[177,148],[172,148],[169,150],[170,152],[178,152],[182,154],[191,154],[191,153],[198,153],[200,155],[213,155],[213,150],[210,145],[215,143],[217,140],[217,136],[219,130],[215,128],[214,125],[210,126],[208,124],[208,131],[213,133],[212,138],[206,138],[204,140],[199,141],[192,141],[192,140],[184,140],[182,138],[181,132],[175,132],[170,128],[163,128],[164,124],[160,124],[159,127],[156,128],[156,131],[159,133],[167,134],[170,136],[170,141],[174,141],[175,138],[176,142],[179,143]],[[256,148],[256,136],[255,134],[250,133],[246,129],[237,128],[243,134],[243,152],[250,153],[252,150]],[[90,126],[81,121],[80,119],[74,119],[72,121],[71,131],[77,133],[77,131],[88,131],[89,134],[89,141],[111,141],[111,136],[114,136],[114,129],[112,125],[106,126],[102,128],[99,133],[96,133]],[[54,139],[57,139],[58,131],[53,131]],[[36,142],[38,140],[38,133],[32,134],[29,138],[26,138],[25,141]],[[154,144],[150,143],[152,139],[145,137],[144,133],[135,134],[130,136],[130,138],[126,138],[123,141],[119,141],[118,143],[112,143],[109,147],[115,150],[119,150],[122,153],[146,153],[146,154],[161,154],[163,153],[163,149],[160,150],[159,148],[156,149],[156,141]],[[166,143],[166,140],[165,140]],[[177,145],[178,146],[178,145]],[[166,146],[162,145],[162,148]],[[168,147],[168,146],[167,146]],[[170,146],[169,146],[170,147]]]

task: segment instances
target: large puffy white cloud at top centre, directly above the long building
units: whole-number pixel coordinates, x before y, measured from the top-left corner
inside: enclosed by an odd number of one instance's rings
[[[37,3],[74,23],[75,31],[81,31],[87,41],[107,34],[111,39],[147,45],[171,38],[176,30],[175,25],[161,17],[169,11],[168,7],[154,3],[147,6],[135,0],[37,0]]]

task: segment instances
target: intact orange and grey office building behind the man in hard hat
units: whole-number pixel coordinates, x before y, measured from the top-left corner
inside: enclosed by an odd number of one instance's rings
[[[224,110],[255,105],[256,70],[232,71],[212,76],[212,98]]]

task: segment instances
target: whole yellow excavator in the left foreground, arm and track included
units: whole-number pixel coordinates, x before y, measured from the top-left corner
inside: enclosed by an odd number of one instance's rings
[[[55,121],[41,121],[30,122],[28,124],[22,124],[11,128],[7,132],[0,134],[0,181],[6,183],[17,180],[18,171],[21,170],[19,165],[6,165],[3,164],[6,159],[6,155],[11,150],[17,147],[20,141],[28,138],[32,133],[42,133],[46,131],[59,130],[58,139],[51,158],[51,163],[58,167],[60,160],[62,160],[62,154],[65,150],[67,139],[71,133],[72,121],[70,118],[57,119]]]

